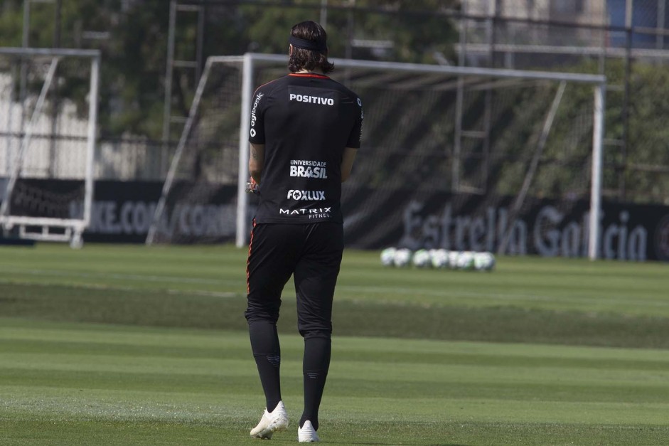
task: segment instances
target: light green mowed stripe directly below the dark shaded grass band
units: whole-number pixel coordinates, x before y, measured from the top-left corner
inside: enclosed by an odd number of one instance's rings
[[[303,340],[300,336],[279,334],[284,356],[301,356]],[[37,351],[68,353],[61,345],[82,351],[83,354],[105,353],[118,349],[127,356],[166,353],[186,357],[245,359],[250,354],[246,331],[218,331],[198,329],[161,329],[145,326],[112,324],[76,324],[68,322],[33,321],[29,319],[0,318],[0,349],[26,353],[15,348],[27,341]],[[442,342],[416,339],[383,339],[337,336],[333,345],[346,352],[343,358],[365,361],[368,358],[394,363],[397,361],[496,366],[567,366],[584,367],[604,364],[606,368],[627,368],[631,363],[640,370],[669,370],[669,350],[665,349],[597,349],[589,346],[551,346],[542,344],[502,344],[482,342]],[[537,363],[537,361],[539,361]]]

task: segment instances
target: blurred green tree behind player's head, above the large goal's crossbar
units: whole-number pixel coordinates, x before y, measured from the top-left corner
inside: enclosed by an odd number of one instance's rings
[[[326,31],[330,53],[397,62],[440,63],[453,58],[454,23],[439,12],[459,9],[456,0],[330,0]],[[286,6],[294,6],[287,8]],[[321,1],[284,1],[283,7],[240,6],[252,51],[284,53],[287,30],[320,20]]]

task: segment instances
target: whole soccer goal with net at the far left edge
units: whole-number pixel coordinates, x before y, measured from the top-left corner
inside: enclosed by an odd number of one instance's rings
[[[91,218],[100,52],[0,48],[0,225],[82,243]]]

